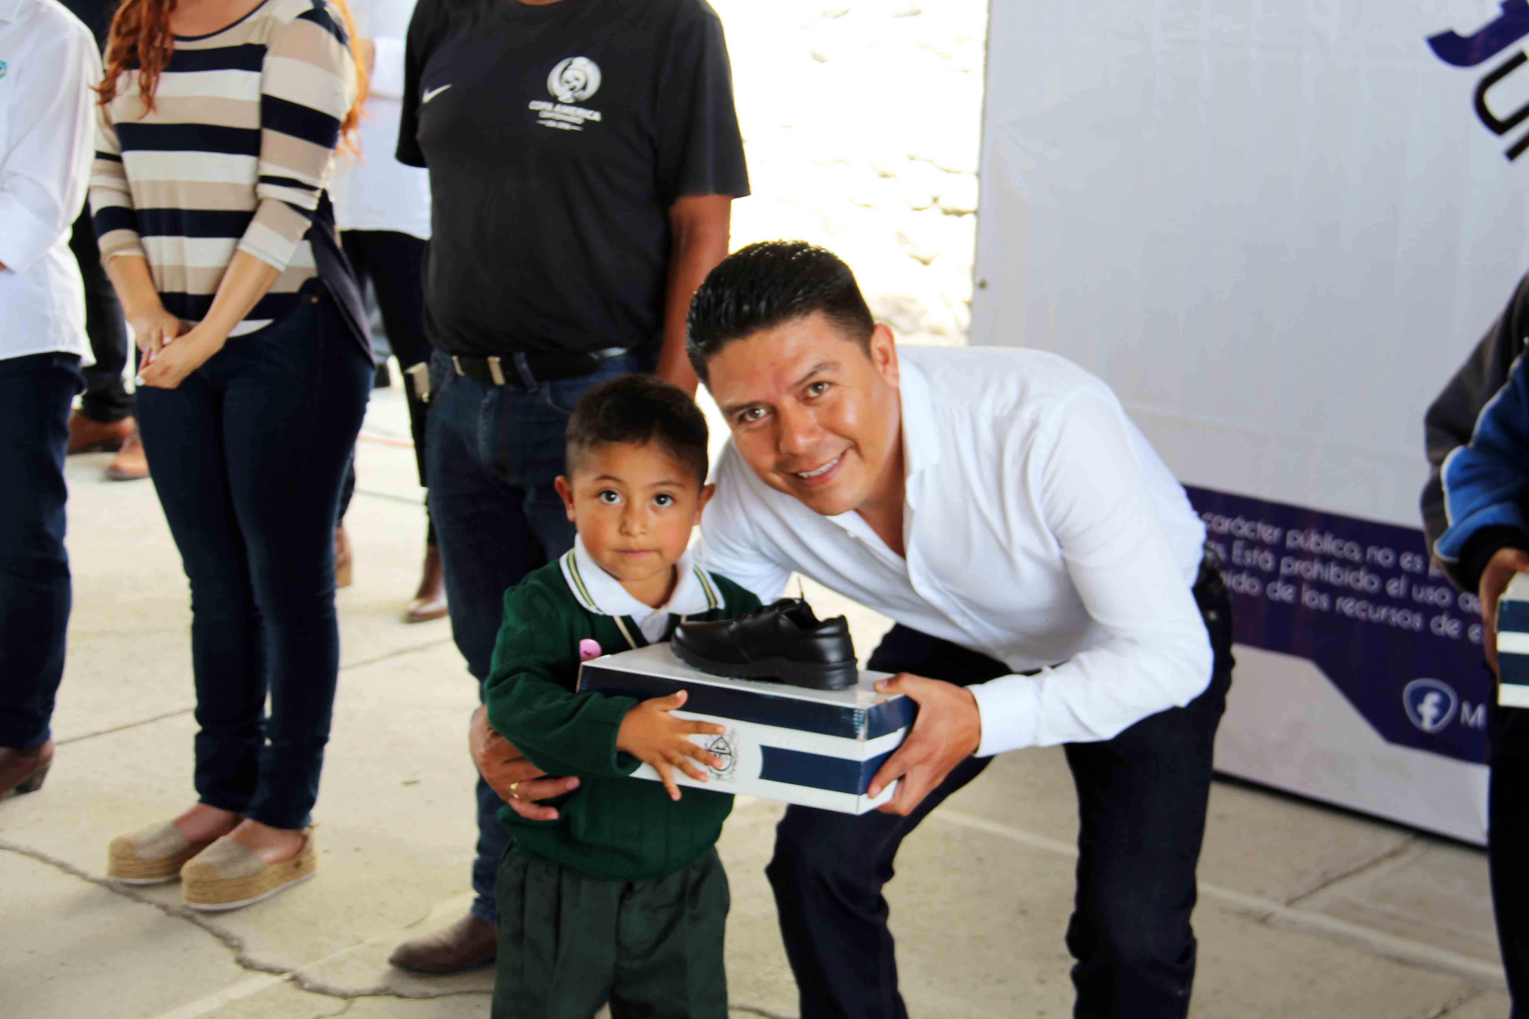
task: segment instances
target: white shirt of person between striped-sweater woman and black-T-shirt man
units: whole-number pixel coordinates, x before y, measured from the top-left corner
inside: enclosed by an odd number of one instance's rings
[[[404,38],[414,0],[352,0],[356,31],[376,46],[372,92],[361,118],[361,156],[341,147],[329,185],[342,231],[398,231],[430,240],[430,174],[405,167],[398,150],[404,112]]]

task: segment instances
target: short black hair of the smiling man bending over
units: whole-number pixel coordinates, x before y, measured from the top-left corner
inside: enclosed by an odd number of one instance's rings
[[[804,240],[772,240],[732,252],[690,302],[685,353],[700,379],[706,362],[734,339],[823,312],[870,350],[876,321],[855,273],[838,255]]]

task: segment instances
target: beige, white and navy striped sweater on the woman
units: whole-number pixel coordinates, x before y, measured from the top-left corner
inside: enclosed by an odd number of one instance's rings
[[[165,310],[197,322],[243,251],[281,275],[231,335],[280,319],[318,272],[306,235],[355,81],[327,0],[266,0],[219,32],[176,37],[151,113],[128,64],[96,121],[102,263],[147,258]]]

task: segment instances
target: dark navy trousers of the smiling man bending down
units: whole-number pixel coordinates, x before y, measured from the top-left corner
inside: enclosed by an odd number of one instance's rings
[[[1216,652],[1206,691],[1113,739],[1066,747],[1081,822],[1078,891],[1067,926],[1079,1019],[1188,1014],[1194,869],[1232,669],[1231,602],[1220,577],[1211,574],[1196,587],[1196,600]],[[1000,662],[901,625],[867,668],[962,686],[1009,672]],[[766,874],[803,1019],[907,1016],[882,888],[907,834],[986,765],[985,758],[969,758],[908,817],[786,808]]]

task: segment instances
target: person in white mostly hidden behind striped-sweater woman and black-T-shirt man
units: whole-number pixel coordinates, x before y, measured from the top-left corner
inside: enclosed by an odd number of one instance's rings
[[[362,286],[372,281],[382,328],[404,371],[408,431],[414,438],[419,484],[425,487],[427,405],[408,370],[430,361],[422,277],[430,241],[430,173],[407,167],[393,154],[404,108],[404,37],[414,14],[414,0],[352,0],[350,9],[361,37],[361,57],[370,60],[372,89],[361,121],[361,153],[341,153],[329,191],[346,257]],[[341,521],[353,487],[355,471],[346,478]],[[335,555],[336,564],[349,564],[352,553],[344,527],[336,535]],[[417,623],[445,614],[440,548],[427,510],[425,567],[404,619]]]

